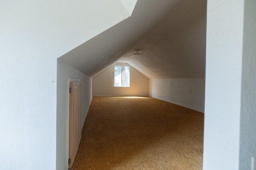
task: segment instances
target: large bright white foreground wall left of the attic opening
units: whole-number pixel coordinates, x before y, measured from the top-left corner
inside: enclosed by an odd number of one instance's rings
[[[57,58],[127,17],[120,0],[0,0],[0,169],[56,169]]]

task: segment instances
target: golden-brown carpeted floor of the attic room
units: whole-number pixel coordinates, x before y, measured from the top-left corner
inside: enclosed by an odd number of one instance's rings
[[[72,170],[202,170],[204,114],[150,97],[94,97]]]

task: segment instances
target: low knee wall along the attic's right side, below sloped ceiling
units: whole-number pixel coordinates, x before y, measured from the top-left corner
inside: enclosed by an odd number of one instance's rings
[[[204,112],[204,78],[150,79],[149,96]]]

